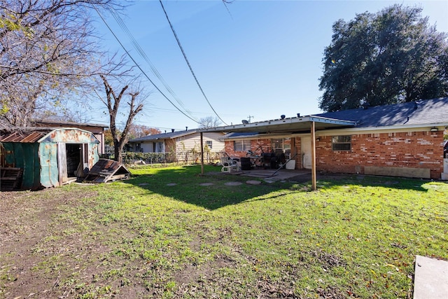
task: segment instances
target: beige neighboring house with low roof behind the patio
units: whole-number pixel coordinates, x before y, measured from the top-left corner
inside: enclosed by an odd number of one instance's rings
[[[204,144],[204,159],[207,161],[219,159],[224,149],[221,138],[224,133],[206,133],[202,140]],[[167,162],[198,162],[201,152],[199,130],[184,130],[148,135],[128,141],[130,151],[140,153],[163,153]]]

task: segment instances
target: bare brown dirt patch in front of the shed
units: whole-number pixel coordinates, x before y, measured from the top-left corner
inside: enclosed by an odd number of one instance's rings
[[[52,235],[54,228],[50,223],[59,207],[96,193],[68,193],[55,188],[0,195],[0,298],[34,295],[51,298],[59,277],[55,273],[42,275],[33,271],[45,256],[36,254],[36,246]],[[64,249],[55,248],[58,250]]]

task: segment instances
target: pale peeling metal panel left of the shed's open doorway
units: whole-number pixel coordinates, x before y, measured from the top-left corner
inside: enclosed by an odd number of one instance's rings
[[[41,160],[41,185],[45,188],[59,186],[57,145],[42,142],[39,146],[39,158]]]

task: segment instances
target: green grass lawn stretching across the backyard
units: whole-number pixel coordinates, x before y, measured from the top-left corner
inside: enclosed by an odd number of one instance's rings
[[[33,271],[59,271],[60,293],[412,298],[415,255],[448,260],[447,183],[346,176],[319,180],[311,191],[309,183],[201,176],[200,166],[132,173],[127,181],[58,188],[88,195],[58,206],[34,248],[42,258]],[[55,251],[73,239],[77,250]],[[0,273],[0,297],[7,279]]]

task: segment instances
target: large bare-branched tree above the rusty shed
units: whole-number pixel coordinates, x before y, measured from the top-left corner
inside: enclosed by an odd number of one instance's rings
[[[87,78],[102,69],[90,13],[113,7],[120,6],[114,0],[0,0],[0,117],[27,126],[34,111],[90,88]]]

